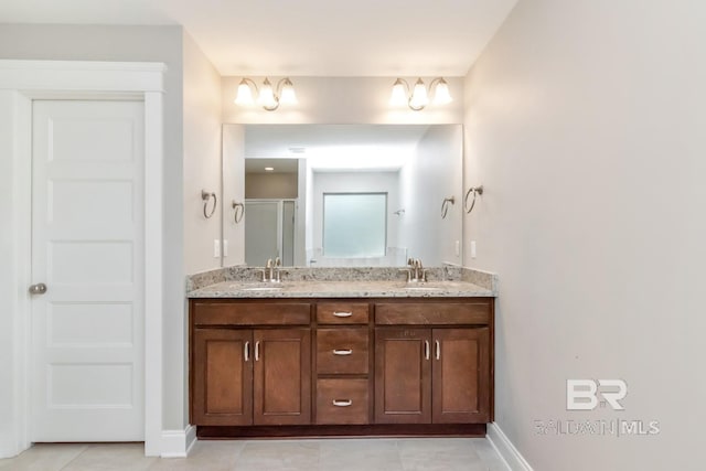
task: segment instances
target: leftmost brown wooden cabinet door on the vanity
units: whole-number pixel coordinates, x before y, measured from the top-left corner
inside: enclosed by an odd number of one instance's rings
[[[253,424],[252,331],[194,330],[194,425]]]

